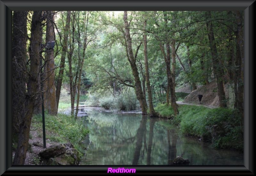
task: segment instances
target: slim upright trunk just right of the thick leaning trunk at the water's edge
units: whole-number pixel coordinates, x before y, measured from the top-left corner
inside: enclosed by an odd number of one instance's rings
[[[145,18],[145,17],[144,17]],[[148,102],[149,102],[149,115],[152,116],[157,116],[154,106],[153,106],[153,99],[152,99],[152,92],[151,92],[151,87],[150,87],[150,81],[149,81],[149,71],[148,71],[148,41],[147,41],[147,33],[146,33],[146,26],[147,26],[147,20],[144,20],[144,34],[143,34],[143,39],[144,39],[144,59],[145,59],[145,76],[146,76],[146,83],[147,83],[147,88],[148,88]]]

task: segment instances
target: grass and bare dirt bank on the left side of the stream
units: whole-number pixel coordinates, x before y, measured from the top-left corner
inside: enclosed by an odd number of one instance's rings
[[[34,115],[31,121],[29,134],[29,147],[24,165],[45,165],[38,153],[45,148],[43,147],[43,122],[42,115]],[[45,142],[46,148],[54,144],[72,143],[79,151],[80,157],[85,155],[83,142],[85,136],[89,133],[88,128],[84,126],[82,119],[59,113],[52,116],[45,113]],[[13,139],[12,158],[15,154],[17,139]]]

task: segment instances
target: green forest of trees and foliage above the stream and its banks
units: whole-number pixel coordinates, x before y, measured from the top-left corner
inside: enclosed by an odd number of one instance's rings
[[[96,99],[151,117],[165,103],[177,116],[175,90],[212,81],[220,108],[232,85],[243,126],[243,11],[13,11],[13,164],[24,164],[32,116],[57,116],[63,92],[75,119],[80,101]]]

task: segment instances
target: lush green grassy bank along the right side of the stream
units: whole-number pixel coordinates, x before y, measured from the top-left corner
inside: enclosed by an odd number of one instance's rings
[[[179,115],[174,116],[171,106],[158,104],[160,116],[170,118],[183,134],[212,142],[212,148],[229,148],[243,151],[243,126],[235,109],[206,108],[195,105],[179,105]]]

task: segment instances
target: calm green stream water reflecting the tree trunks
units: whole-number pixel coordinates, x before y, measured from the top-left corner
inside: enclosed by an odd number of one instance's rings
[[[177,156],[188,158],[189,165],[244,165],[242,153],[210,149],[197,138],[180,135],[166,119],[86,111],[83,118],[90,133],[81,165],[170,165]]]

